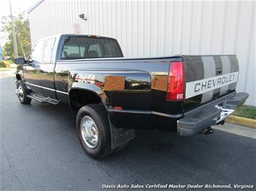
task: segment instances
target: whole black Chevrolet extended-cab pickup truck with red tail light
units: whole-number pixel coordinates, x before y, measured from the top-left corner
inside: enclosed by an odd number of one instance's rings
[[[236,93],[236,55],[124,58],[116,39],[61,34],[15,63],[20,103],[69,104],[81,146],[97,159],[135,129],[209,134],[248,97]]]

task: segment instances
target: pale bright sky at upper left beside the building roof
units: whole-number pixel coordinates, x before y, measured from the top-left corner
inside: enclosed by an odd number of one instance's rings
[[[15,16],[23,11],[27,12],[30,7],[32,7],[34,4],[37,3],[39,0],[11,0],[12,3],[12,14]],[[0,5],[0,19],[3,16],[9,16],[10,15],[10,8],[9,8],[9,0],[1,1]],[[1,22],[0,22],[0,29],[1,29]],[[4,45],[6,42],[5,40],[5,34],[0,32],[0,43],[1,46]]]

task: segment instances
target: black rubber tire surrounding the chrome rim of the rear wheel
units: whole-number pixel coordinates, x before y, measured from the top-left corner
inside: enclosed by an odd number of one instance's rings
[[[89,116],[97,126],[98,141],[95,148],[90,148],[84,141],[81,130],[81,121],[84,116]],[[102,103],[89,104],[79,109],[76,114],[76,130],[79,141],[84,151],[94,159],[102,159],[111,153],[111,134],[107,112]]]

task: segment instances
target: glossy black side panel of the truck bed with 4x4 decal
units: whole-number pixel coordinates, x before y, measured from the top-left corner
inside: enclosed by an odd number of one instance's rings
[[[107,96],[107,106],[128,110],[182,113],[182,101],[166,101],[169,62],[181,57],[69,60],[56,64],[56,89],[61,100],[72,83],[94,83]],[[70,71],[70,78],[68,73]],[[66,87],[66,85],[68,85]]]

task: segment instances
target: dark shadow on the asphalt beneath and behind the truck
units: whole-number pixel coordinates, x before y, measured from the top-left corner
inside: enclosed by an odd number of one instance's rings
[[[36,112],[42,115],[63,121],[62,131],[76,139],[75,115],[69,106],[32,103],[32,107],[36,107]],[[118,184],[167,184],[170,180],[172,184],[184,181],[216,183],[212,181],[214,178],[219,180],[219,184],[227,184],[255,169],[251,169],[243,159],[247,154],[256,158],[252,146],[249,151],[244,151],[245,139],[248,140],[223,131],[189,137],[164,131],[137,131],[136,139],[125,149],[102,160],[94,160],[84,154],[79,141],[70,141],[69,144],[77,149],[78,156],[71,157],[74,162],[97,164]],[[254,145],[256,143],[254,139],[249,141]],[[230,176],[232,172],[234,174]],[[206,180],[206,177],[212,179]]]

